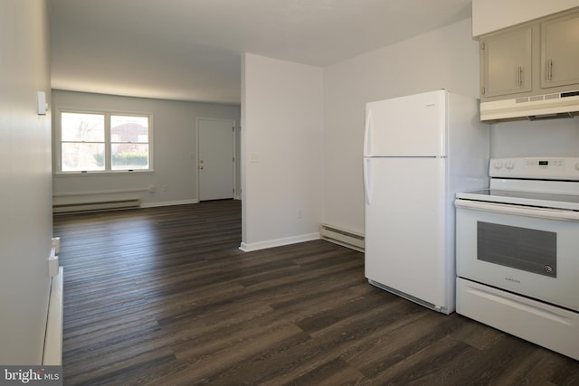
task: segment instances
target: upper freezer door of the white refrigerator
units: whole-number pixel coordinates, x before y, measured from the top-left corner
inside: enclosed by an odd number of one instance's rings
[[[366,104],[364,156],[445,156],[446,101],[441,89]]]

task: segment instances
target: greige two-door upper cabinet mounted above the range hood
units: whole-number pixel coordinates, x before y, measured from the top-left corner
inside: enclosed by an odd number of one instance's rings
[[[579,89],[579,8],[483,35],[480,100]]]

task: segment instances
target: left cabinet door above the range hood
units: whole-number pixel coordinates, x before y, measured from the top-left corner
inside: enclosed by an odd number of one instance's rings
[[[491,35],[480,41],[480,97],[531,90],[532,28]]]

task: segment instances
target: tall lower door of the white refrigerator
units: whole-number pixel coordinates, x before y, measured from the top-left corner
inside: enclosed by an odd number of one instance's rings
[[[453,261],[446,245],[446,162],[365,158],[370,189],[365,203],[365,277],[451,312],[454,278],[448,274]]]

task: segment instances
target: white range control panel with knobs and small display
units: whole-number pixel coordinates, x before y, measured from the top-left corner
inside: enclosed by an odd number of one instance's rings
[[[579,157],[491,158],[489,175],[500,178],[579,181]]]

